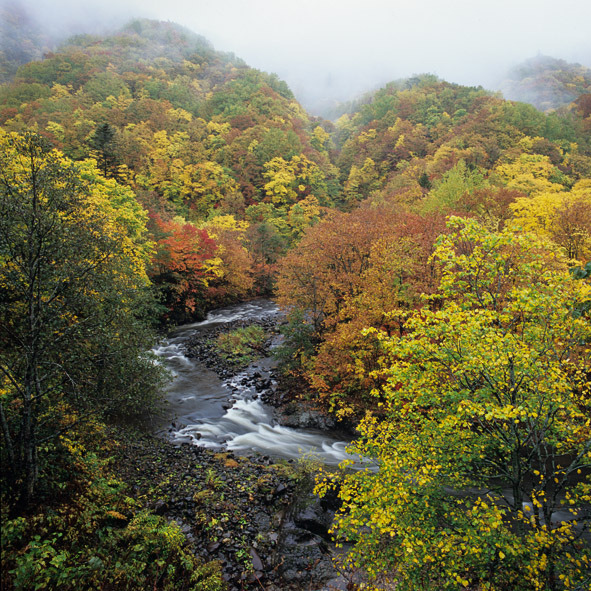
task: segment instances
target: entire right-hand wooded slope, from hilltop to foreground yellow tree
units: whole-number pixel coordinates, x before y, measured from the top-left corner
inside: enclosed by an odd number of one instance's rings
[[[371,468],[318,491],[378,589],[591,582],[588,96],[547,115],[424,76],[336,122],[347,211],[278,294],[291,371],[357,418]]]

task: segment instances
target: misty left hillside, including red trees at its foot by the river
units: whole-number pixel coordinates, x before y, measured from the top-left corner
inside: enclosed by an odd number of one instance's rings
[[[253,277],[267,289],[277,257],[339,198],[329,136],[285,83],[170,23],[135,21],[110,37],[71,39],[22,66],[0,102],[5,130],[35,130],[133,188],[161,246],[152,277],[177,319],[200,313],[204,298],[243,297]],[[217,246],[208,247],[193,224],[219,216],[209,230]],[[193,277],[175,279],[187,240],[205,240],[195,243],[203,256],[181,265]]]

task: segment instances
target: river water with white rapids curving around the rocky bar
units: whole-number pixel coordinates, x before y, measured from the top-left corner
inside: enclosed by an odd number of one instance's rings
[[[350,457],[345,451],[346,442],[335,434],[274,423],[272,409],[261,402],[255,388],[249,385],[249,377],[255,373],[263,380],[272,379],[273,359],[261,359],[231,379],[222,380],[203,363],[185,355],[187,342],[199,338],[207,329],[278,313],[269,300],[215,310],[203,322],[177,327],[154,349],[173,374],[167,390],[169,413],[162,424],[168,427],[173,440],[282,458],[311,454],[330,465]]]

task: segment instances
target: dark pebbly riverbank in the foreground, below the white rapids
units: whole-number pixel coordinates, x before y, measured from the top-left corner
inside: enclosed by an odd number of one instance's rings
[[[127,430],[111,437],[130,496],[178,523],[196,555],[219,561],[230,591],[353,588],[333,566],[335,504],[311,494],[315,466]]]

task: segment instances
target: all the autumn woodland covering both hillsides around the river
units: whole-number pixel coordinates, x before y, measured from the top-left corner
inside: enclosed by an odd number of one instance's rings
[[[170,23],[4,58],[3,588],[223,588],[97,450],[158,406],[158,330],[260,295],[375,466],[318,479],[351,568],[589,588],[588,70],[548,113],[424,75],[331,122]]]

